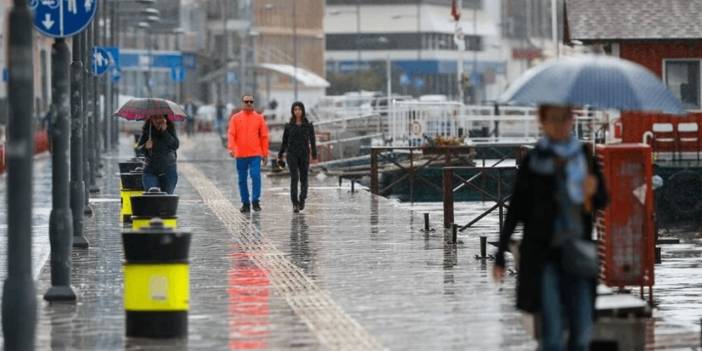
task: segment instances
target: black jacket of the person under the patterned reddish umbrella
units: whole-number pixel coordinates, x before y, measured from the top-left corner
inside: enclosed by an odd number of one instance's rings
[[[151,150],[146,149],[146,141],[149,135],[153,141]],[[168,127],[164,131],[159,131],[151,125],[151,122],[144,123],[141,130],[141,138],[137,143],[137,149],[141,149],[146,157],[145,172],[153,174],[164,173],[168,168],[176,164],[176,150],[180,146],[178,135],[173,123],[168,122]]]

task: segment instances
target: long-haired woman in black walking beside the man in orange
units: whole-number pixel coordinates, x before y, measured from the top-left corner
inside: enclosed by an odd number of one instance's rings
[[[285,125],[283,144],[278,153],[278,160],[286,154],[290,170],[290,199],[293,212],[305,209],[307,199],[307,175],[310,169],[310,153],[312,159],[317,159],[317,145],[314,137],[314,126],[305,116],[305,105],[295,102],[290,109],[292,117]],[[300,182],[300,196],[297,195],[297,183]]]

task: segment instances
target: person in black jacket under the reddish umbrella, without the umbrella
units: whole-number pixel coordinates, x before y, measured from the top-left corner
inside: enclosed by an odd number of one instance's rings
[[[173,194],[178,183],[176,150],[180,145],[173,122],[168,116],[152,116],[141,129],[137,149],[144,151],[146,163],[142,183],[144,189],[156,187]]]

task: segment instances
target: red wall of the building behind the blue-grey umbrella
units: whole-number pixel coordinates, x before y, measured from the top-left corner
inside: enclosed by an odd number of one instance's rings
[[[641,41],[619,43],[619,57],[636,62],[663,79],[663,61],[665,59],[699,59],[702,60],[702,40],[694,41]],[[643,134],[653,123],[697,122],[700,125],[698,137],[702,138],[702,111],[690,111],[686,117],[665,114],[632,113],[622,114],[622,141],[626,143],[642,142]],[[685,149],[692,149],[686,145]]]

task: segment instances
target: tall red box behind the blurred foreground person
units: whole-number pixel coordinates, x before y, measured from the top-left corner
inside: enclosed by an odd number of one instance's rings
[[[610,204],[597,216],[597,237],[607,286],[653,288],[655,238],[651,147],[616,144],[597,147]],[[649,290],[651,296],[651,290]]]

